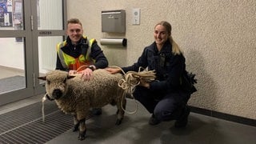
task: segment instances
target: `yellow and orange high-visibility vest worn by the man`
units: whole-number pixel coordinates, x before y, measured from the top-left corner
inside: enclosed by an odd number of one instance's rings
[[[57,45],[57,53],[58,53],[58,58],[60,59],[60,62],[62,63],[63,68],[69,69],[69,70],[78,70],[79,67],[81,66],[90,66],[94,64],[94,59],[90,58],[90,51],[91,51],[91,46],[95,42],[95,39],[92,38],[90,40],[87,39],[86,36],[82,36],[82,38],[86,39],[86,43],[89,42],[89,47],[86,51],[86,55],[81,54],[78,56],[78,58],[74,58],[70,56],[69,54],[66,54],[63,52],[61,49],[63,46],[66,46],[67,42],[66,40],[64,42],[60,42]]]

